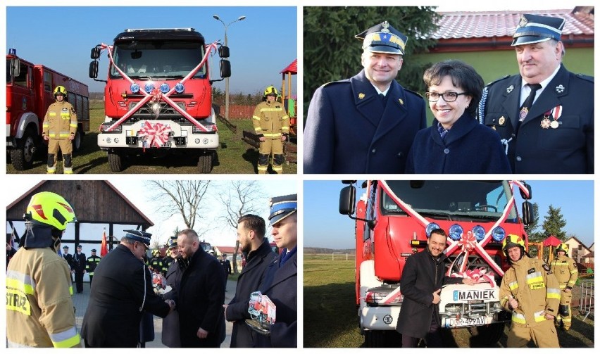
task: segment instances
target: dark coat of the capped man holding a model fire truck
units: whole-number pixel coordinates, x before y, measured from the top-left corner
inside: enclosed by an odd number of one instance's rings
[[[276,319],[271,326],[270,336],[258,336],[258,347],[296,348],[297,320],[296,284],[298,284],[298,253],[294,253],[284,265],[280,265],[280,254],[273,258],[265,270],[259,286],[275,303]]]

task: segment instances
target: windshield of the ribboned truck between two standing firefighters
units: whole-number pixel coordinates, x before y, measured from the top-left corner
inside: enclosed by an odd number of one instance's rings
[[[120,70],[131,78],[185,77],[204,57],[199,42],[133,41],[115,45],[113,58]],[[111,77],[119,77],[111,67]],[[194,77],[206,77],[206,63]]]

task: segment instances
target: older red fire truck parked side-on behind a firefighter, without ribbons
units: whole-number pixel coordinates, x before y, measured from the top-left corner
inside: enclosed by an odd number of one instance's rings
[[[77,112],[77,134],[73,149],[81,146],[89,131],[89,91],[71,77],[44,65],[33,64],[17,56],[15,49],[6,55],[6,153],[15,170],[32,167],[35,152],[44,146],[42,121],[46,110],[54,103],[54,88],[64,86],[67,101]]]

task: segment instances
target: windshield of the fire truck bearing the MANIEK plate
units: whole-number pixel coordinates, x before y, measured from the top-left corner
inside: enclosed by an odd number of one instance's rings
[[[512,191],[506,181],[386,181],[392,193],[422,216],[447,220],[497,220]],[[385,215],[406,214],[392,196],[382,193]],[[514,204],[507,222],[517,222]]]

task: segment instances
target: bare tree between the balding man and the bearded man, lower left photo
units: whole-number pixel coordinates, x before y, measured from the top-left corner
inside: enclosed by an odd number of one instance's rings
[[[237,220],[246,214],[260,214],[259,210],[267,205],[267,197],[261,194],[261,186],[257,181],[231,181],[230,184],[218,194],[218,200],[225,207],[223,215],[219,217],[225,224],[237,230]],[[232,256],[233,272],[237,270],[237,251],[239,240],[235,241],[235,250]]]

